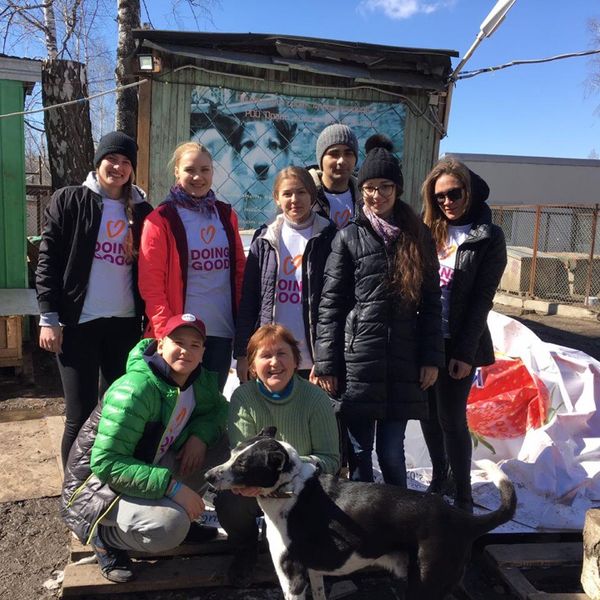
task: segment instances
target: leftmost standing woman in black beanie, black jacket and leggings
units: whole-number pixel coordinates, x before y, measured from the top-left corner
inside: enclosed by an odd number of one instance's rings
[[[98,397],[125,372],[141,335],[137,252],[152,206],[133,185],[136,160],[135,140],[120,131],[105,135],[95,171],[82,185],[56,191],[45,212],[36,271],[39,343],[58,357],[66,412],[63,464]]]

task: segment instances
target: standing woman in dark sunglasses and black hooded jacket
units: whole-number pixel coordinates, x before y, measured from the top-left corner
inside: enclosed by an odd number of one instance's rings
[[[424,221],[440,262],[446,369],[430,390],[431,415],[421,421],[433,467],[429,492],[446,489],[448,468],[455,506],[473,512],[471,436],[467,397],[475,368],[494,362],[487,316],[506,266],[502,229],[485,204],[489,187],[453,157],[440,160],[421,188]]]

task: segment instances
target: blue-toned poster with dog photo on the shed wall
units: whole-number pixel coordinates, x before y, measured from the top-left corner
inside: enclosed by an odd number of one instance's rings
[[[213,189],[235,208],[240,229],[273,219],[273,181],[288,165],[314,166],[319,133],[331,123],[350,126],[364,142],[387,134],[402,160],[406,109],[403,104],[307,98],[197,86],[192,91],[190,136],[214,160]]]

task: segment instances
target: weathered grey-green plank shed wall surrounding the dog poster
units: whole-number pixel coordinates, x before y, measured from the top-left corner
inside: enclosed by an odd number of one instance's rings
[[[318,96],[361,100],[366,102],[396,102],[397,95],[386,94],[372,89],[327,89],[306,84],[294,85],[281,82],[280,75],[272,74],[272,79],[248,77],[240,79],[225,73],[207,73],[194,68],[170,71],[162,79],[152,81],[149,147],[149,199],[160,203],[173,183],[173,169],[168,166],[170,156],[178,143],[189,139],[190,103],[192,89],[196,85],[243,89],[248,92],[279,93],[288,96]],[[242,83],[240,83],[242,82]],[[433,163],[435,130],[423,117],[427,108],[427,94],[415,90],[406,94],[414,106],[407,107],[404,132],[403,174],[405,179],[404,200],[417,211],[421,210],[419,189]],[[416,108],[418,107],[418,112]],[[415,114],[416,113],[416,114]],[[148,118],[143,116],[142,118]]]

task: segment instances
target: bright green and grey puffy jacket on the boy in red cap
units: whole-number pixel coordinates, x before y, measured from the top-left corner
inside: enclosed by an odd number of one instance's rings
[[[118,494],[162,498],[171,481],[169,469],[152,461],[179,388],[158,377],[144,359],[152,344],[155,340],[144,339],[130,352],[126,374],[107,390],[69,454],[61,512],[83,541]],[[190,435],[210,447],[225,432],[228,403],[219,392],[217,374],[202,370],[193,388],[196,407],[171,446],[174,450]]]

